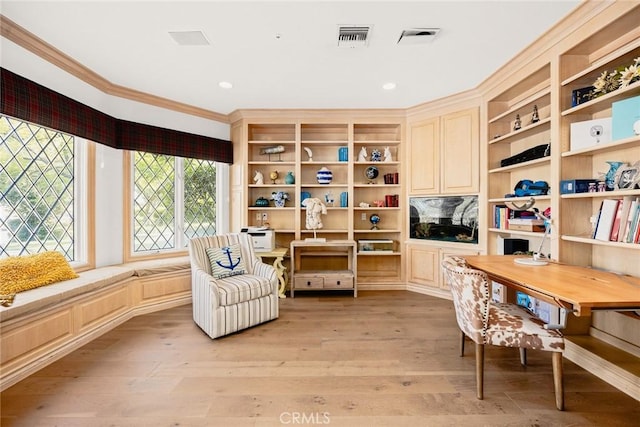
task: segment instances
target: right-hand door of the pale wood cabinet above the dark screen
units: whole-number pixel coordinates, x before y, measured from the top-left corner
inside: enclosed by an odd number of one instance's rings
[[[478,115],[478,109],[471,108],[442,116],[442,193],[479,191]]]

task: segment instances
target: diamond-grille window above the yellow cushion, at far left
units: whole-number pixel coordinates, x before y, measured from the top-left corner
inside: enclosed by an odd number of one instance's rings
[[[0,257],[76,257],[74,137],[0,116]]]

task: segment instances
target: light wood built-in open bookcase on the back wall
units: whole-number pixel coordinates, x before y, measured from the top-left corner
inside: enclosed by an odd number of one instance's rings
[[[404,113],[370,114],[321,110],[234,113],[232,229],[267,223],[276,231],[277,246],[288,247],[294,240],[314,237],[313,230],[305,226],[306,208],[301,202],[306,197],[319,198],[327,214],[321,216],[323,228],[316,230],[317,237],[393,242],[391,251],[355,250],[358,283],[369,289],[404,287]],[[366,157],[359,157],[361,151]],[[390,157],[385,158],[385,152]],[[329,183],[317,179],[322,168],[331,171]],[[269,178],[273,171],[278,172],[275,180]],[[256,172],[262,174],[264,183],[254,182]],[[285,180],[289,172],[293,183]],[[271,200],[271,194],[279,191],[288,194],[284,207],[275,207]],[[372,222],[372,217],[379,222]],[[328,264],[330,259],[318,262]]]

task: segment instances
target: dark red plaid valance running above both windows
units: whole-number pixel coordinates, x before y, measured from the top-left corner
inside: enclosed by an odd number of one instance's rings
[[[0,68],[0,113],[113,148],[233,163],[231,141],[111,117]]]

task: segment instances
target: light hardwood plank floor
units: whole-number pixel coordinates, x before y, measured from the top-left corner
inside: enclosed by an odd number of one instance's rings
[[[638,426],[640,403],[565,360],[458,356],[450,301],[301,294],[280,318],[210,340],[191,306],[134,318],[2,393],[2,426]]]

